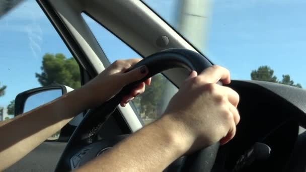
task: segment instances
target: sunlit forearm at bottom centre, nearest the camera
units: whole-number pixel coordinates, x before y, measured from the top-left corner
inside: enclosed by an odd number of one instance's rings
[[[79,171],[162,171],[190,147],[181,126],[161,119],[140,129]]]

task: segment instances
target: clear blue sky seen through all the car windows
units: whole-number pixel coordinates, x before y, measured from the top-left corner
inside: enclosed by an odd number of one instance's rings
[[[144,2],[177,27],[178,0]],[[304,0],[212,0],[207,47],[202,52],[230,69],[235,79],[250,79],[251,70],[269,65],[278,78],[290,74],[306,87],[305,5]],[[101,26],[87,21],[111,61],[138,56]],[[46,52],[71,57],[33,0],[0,19],[0,38],[0,82],[8,86],[0,106],[7,106],[20,92],[40,87],[35,72],[41,72]]]

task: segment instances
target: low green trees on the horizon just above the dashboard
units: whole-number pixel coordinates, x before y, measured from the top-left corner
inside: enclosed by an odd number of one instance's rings
[[[269,66],[259,66],[257,70],[252,70],[251,72],[251,79],[252,80],[262,80],[262,81],[268,81],[268,82],[275,82],[275,83],[282,83],[286,85],[291,85],[293,87],[302,88],[301,84],[294,83],[293,80],[291,80],[290,75],[283,74],[282,80],[278,80],[277,77],[274,75],[274,70],[271,69]]]

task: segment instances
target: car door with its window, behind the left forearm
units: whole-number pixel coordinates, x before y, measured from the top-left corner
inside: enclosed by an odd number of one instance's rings
[[[0,7],[7,9],[0,16],[0,120],[5,122],[14,118],[19,93],[52,84],[78,89],[83,69],[36,1],[4,1]],[[53,171],[79,121],[67,124],[6,171]]]

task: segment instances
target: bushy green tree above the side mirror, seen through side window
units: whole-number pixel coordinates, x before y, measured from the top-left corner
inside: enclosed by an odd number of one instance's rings
[[[43,56],[42,72],[35,73],[42,86],[63,84],[77,89],[81,87],[80,69],[73,57],[66,58],[63,54],[46,53]]]

